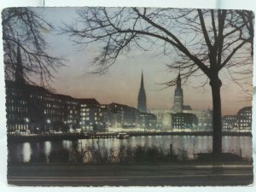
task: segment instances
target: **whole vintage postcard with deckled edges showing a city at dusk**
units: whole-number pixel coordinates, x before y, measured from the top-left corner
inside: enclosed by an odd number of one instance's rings
[[[250,10],[2,12],[8,183],[253,183]]]

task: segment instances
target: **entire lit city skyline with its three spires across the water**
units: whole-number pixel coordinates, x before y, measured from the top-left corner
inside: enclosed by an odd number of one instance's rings
[[[211,131],[212,110],[193,110],[183,104],[180,73],[171,110],[147,110],[143,73],[137,108],[119,103],[101,104],[94,98],[55,94],[24,79],[20,48],[15,80],[6,80],[6,111],[9,132],[106,131],[114,128],[165,131]],[[250,130],[252,108],[223,117],[224,131]]]

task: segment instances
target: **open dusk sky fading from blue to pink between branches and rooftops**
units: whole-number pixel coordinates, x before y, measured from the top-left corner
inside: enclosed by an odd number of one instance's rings
[[[50,8],[34,11],[40,13],[45,20],[56,28],[66,23],[74,22],[77,18],[74,8]],[[52,46],[51,55],[63,56],[66,67],[61,67],[55,73],[55,92],[73,97],[96,98],[100,103],[118,102],[137,108],[137,94],[143,70],[144,85],[147,95],[148,109],[170,109],[173,104],[175,87],[166,89],[166,81],[177,76],[177,73],[167,72],[166,64],[175,60],[175,55],[156,55],[156,51],[142,52],[132,50],[129,55],[121,55],[107,74],[98,75],[93,71],[91,61],[97,55],[96,47],[92,44],[79,51],[65,34],[45,34],[45,40]],[[247,96],[243,90],[232,83],[229,74],[223,71],[220,74],[223,80],[221,88],[223,114],[235,114],[240,108],[251,106],[245,101]],[[184,104],[193,109],[212,108],[210,86],[204,78],[192,78],[183,84]]]

